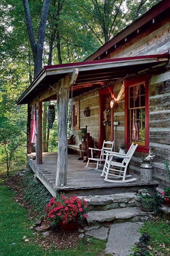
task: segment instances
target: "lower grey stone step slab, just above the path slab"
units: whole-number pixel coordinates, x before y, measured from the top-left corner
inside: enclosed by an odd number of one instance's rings
[[[105,211],[90,211],[87,216],[87,222],[89,225],[96,224],[97,222],[112,221],[118,219],[131,219],[135,218],[137,221],[138,216],[153,215],[153,212],[143,212],[138,207],[126,207],[126,208],[115,208]]]

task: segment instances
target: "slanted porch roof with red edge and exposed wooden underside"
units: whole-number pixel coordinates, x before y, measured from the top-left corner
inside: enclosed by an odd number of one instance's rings
[[[75,96],[83,91],[102,86],[115,79],[124,78],[133,73],[153,68],[160,63],[166,64],[169,53],[143,55],[135,57],[114,58],[104,60],[92,60],[78,63],[44,66],[32,84],[19,97],[17,104],[26,104],[32,101],[39,93],[46,91],[67,74],[78,69],[77,80],[73,85]],[[71,88],[70,88],[71,90]],[[44,101],[56,100],[56,93]]]

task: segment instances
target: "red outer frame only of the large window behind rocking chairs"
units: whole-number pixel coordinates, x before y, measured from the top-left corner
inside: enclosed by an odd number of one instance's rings
[[[145,146],[138,145],[136,151],[149,151],[149,76],[141,76],[124,82],[125,85],[125,144],[130,148],[129,138],[129,86],[145,83]]]

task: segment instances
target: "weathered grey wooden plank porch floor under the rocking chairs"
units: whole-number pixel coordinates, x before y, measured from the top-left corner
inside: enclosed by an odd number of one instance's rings
[[[32,154],[33,155],[33,154]],[[140,176],[133,174],[137,180],[127,183],[110,183],[103,180],[100,171],[84,168],[86,163],[77,160],[78,154],[68,154],[68,172],[67,185],[56,187],[57,153],[43,153],[42,165],[36,165],[30,155],[27,155],[27,161],[39,180],[56,196],[56,192],[64,192],[67,195],[100,195],[114,194],[123,192],[134,192],[136,189],[147,188],[151,193],[158,186],[157,181],[141,182]]]

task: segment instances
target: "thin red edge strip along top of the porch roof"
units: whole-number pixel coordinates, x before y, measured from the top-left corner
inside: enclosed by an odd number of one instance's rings
[[[136,59],[147,59],[147,58],[164,58],[169,57],[168,50],[162,54],[152,54],[152,55],[142,55],[142,56],[133,56],[133,57],[123,57],[123,58],[114,58],[114,59],[102,59],[102,60],[91,60],[86,62],[74,62],[74,63],[66,63],[66,64],[58,64],[58,65],[49,65],[44,66],[44,69],[54,69],[54,68],[64,68],[70,66],[84,66],[96,63],[107,63],[107,62],[119,62],[123,60],[136,60]]]

